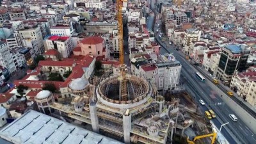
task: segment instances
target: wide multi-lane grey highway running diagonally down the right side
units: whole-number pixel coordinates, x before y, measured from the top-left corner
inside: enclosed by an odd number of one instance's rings
[[[151,3],[154,8],[154,0]],[[157,12],[154,11],[156,16]],[[148,21],[149,22],[149,21]],[[157,19],[157,24],[161,23],[161,20]],[[154,32],[156,33],[156,27],[154,28]],[[159,29],[160,30],[160,29]],[[161,31],[159,31],[161,33]],[[206,106],[201,106],[202,111],[206,111],[207,109],[212,109],[216,112],[217,118],[213,119],[212,122],[220,127],[221,124],[225,124],[229,122],[228,125],[225,125],[221,129],[221,133],[225,136],[230,144],[233,143],[256,143],[255,133],[252,132],[251,124],[244,124],[243,120],[241,120],[241,113],[234,113],[234,111],[230,108],[229,104],[226,104],[226,101],[230,98],[225,95],[225,93],[221,92],[217,86],[211,83],[211,81],[205,81],[202,83],[199,79],[195,77],[196,70],[195,67],[190,65],[186,58],[184,58],[184,54],[180,51],[175,50],[174,45],[169,45],[168,42],[162,42],[158,36],[156,36],[156,40],[161,45],[161,54],[164,53],[173,53],[175,58],[180,61],[182,64],[182,76],[186,80],[186,85],[188,85],[189,90],[195,96],[196,101],[199,99],[203,99],[207,104]],[[223,97],[220,97],[223,95]],[[225,102],[223,101],[225,99]],[[235,108],[241,109],[241,108]],[[228,117],[228,114],[235,114],[238,118],[237,122],[233,122]],[[250,128],[249,128],[250,127]]]

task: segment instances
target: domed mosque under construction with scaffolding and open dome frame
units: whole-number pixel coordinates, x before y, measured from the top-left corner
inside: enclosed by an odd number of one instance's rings
[[[40,93],[38,108],[44,109],[42,112],[51,109],[61,119],[90,124],[94,132],[125,143],[166,143],[174,132],[183,134],[193,124],[189,116],[180,113],[179,99],[165,102],[163,96],[154,95],[148,81],[133,76],[125,65],[106,72],[97,87],[86,79],[74,79],[68,91],[72,98],[68,104]]]

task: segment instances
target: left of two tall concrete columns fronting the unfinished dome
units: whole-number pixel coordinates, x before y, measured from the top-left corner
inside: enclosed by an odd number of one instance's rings
[[[99,120],[97,116],[96,102],[90,102],[89,108],[90,108],[92,129],[94,132],[99,132]]]

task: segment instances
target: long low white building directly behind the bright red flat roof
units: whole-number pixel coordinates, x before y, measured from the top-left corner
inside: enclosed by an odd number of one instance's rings
[[[50,28],[51,35],[60,35],[60,36],[72,36],[74,29],[72,22],[70,24],[56,24]]]

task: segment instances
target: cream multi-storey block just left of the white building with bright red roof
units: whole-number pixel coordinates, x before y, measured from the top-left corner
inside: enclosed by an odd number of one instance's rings
[[[35,54],[44,53],[43,36],[39,26],[19,30],[23,46],[32,47]]]

